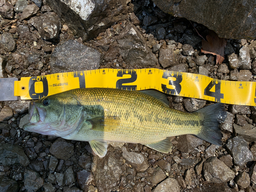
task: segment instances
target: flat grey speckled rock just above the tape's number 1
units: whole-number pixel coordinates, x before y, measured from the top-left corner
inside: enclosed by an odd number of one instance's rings
[[[76,40],[60,43],[53,51],[50,66],[52,73],[98,69],[101,54]]]

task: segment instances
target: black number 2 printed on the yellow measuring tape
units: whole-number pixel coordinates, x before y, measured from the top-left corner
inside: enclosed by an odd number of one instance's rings
[[[134,86],[126,86],[123,85],[124,83],[131,83],[137,80],[137,73],[135,70],[119,70],[117,72],[117,77],[122,77],[123,75],[131,75],[130,78],[126,79],[118,79],[116,81],[116,89],[123,89],[123,90],[130,90],[130,91],[136,91],[137,90],[137,85]]]

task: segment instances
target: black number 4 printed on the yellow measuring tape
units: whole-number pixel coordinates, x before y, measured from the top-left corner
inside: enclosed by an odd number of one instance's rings
[[[214,86],[215,91],[210,91]],[[221,102],[221,99],[224,98],[224,94],[221,93],[221,82],[212,80],[204,89],[204,95],[214,97],[216,102]]]

